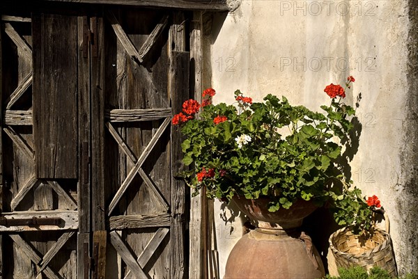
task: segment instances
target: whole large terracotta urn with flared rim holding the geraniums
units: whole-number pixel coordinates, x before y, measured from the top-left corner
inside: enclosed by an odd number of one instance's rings
[[[316,279],[325,276],[311,238],[300,231],[303,218],[314,212],[312,202],[300,200],[290,209],[268,211],[268,198],[233,201],[256,229],[235,244],[224,279]]]

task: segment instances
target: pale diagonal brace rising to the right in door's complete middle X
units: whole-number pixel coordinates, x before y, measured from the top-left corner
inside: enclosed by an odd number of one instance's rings
[[[125,180],[123,181],[121,187],[118,189],[118,191],[116,192],[116,195],[114,196],[113,200],[111,200],[111,202],[110,202],[109,212],[108,212],[109,216],[110,216],[111,212],[113,212],[113,210],[115,209],[119,200],[121,200],[121,198],[123,196],[123,193],[125,193],[125,191],[127,189],[127,186],[130,185],[130,183],[134,179],[135,175],[138,173],[139,169],[141,168],[142,164],[144,164],[144,161],[146,160],[146,158],[148,157],[150,152],[153,150],[155,144],[161,138],[162,133],[165,131],[167,126],[169,126],[170,122],[171,122],[171,118],[166,118],[166,120],[164,120],[164,122],[162,122],[162,125],[160,126],[160,128],[157,129],[157,131],[155,132],[155,135],[153,136],[153,138],[151,138],[150,143],[148,143],[148,145],[146,145],[146,148],[144,149],[144,152],[142,152],[141,156],[139,157],[139,159],[137,161],[137,164],[135,164],[135,166],[130,170],[130,173],[127,174],[127,176],[126,176]]]

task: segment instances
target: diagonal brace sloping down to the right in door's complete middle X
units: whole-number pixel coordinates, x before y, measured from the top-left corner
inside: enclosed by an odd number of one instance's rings
[[[110,134],[114,137],[114,139],[116,140],[118,145],[121,147],[123,152],[126,154],[126,157],[128,159],[130,159],[132,164],[135,164],[135,162],[137,162],[138,159],[135,156],[134,152],[132,152],[132,150],[127,146],[125,141],[123,141],[122,136],[118,133],[118,131],[116,131],[116,129],[113,127],[113,125],[111,125],[110,122],[107,122],[106,126],[109,129]],[[142,168],[139,168],[138,173],[139,173],[139,175],[141,175],[141,177],[144,180],[144,182],[146,183],[146,185],[148,187],[150,187],[151,190],[153,190],[153,192],[157,196],[157,199],[160,201],[161,205],[163,207],[165,207],[166,210],[168,210],[169,209],[169,203],[167,202],[167,200],[164,199],[164,196],[162,196],[162,193],[160,192],[158,187],[155,186],[153,180],[151,180],[150,177],[148,177],[148,175],[144,172],[144,170]]]

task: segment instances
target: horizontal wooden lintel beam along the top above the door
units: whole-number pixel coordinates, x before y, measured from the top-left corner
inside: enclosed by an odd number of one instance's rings
[[[160,8],[178,8],[183,10],[229,10],[226,0],[42,0],[44,2],[62,2],[62,3],[94,3],[94,4],[112,4],[129,5]],[[16,0],[15,3],[20,1]]]

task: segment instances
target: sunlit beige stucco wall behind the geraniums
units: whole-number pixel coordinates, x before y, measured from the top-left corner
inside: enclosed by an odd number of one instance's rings
[[[215,102],[233,102],[239,88],[258,101],[272,93],[320,110],[320,104],[330,102],[323,92],[326,85],[355,77],[346,102],[355,104],[361,93],[357,115],[362,130],[351,175],[364,194],[376,194],[387,210],[401,273],[418,264],[418,252],[411,255],[414,249],[405,239],[405,230],[409,237],[415,233],[415,223],[408,221],[413,213],[400,212],[410,179],[403,170],[405,144],[411,144],[405,138],[409,8],[403,0],[243,0],[226,17],[215,16],[212,30],[220,31],[212,35],[210,58]],[[238,221],[219,218],[221,207],[215,203],[222,277],[242,228]]]

